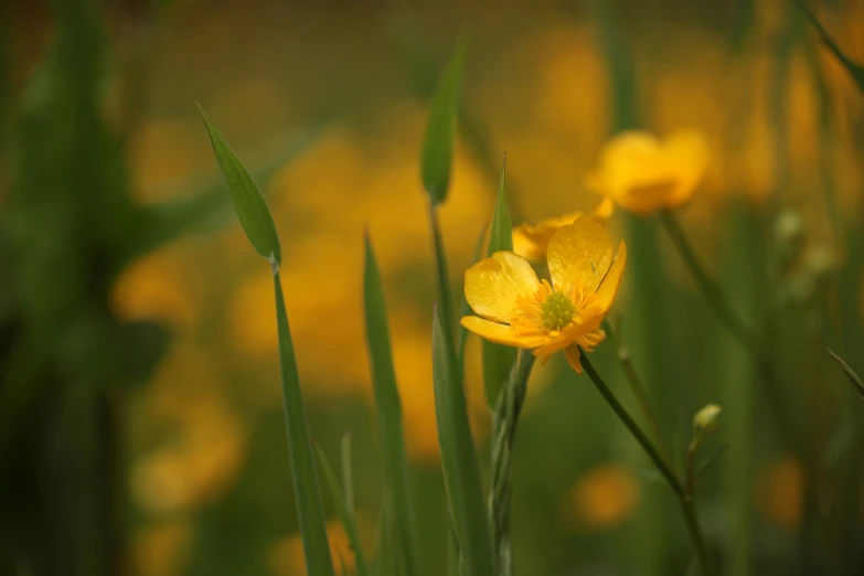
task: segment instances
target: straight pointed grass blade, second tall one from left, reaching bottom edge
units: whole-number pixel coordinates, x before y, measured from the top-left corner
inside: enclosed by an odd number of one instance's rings
[[[418,574],[417,544],[414,532],[414,505],[410,497],[408,459],[405,451],[405,438],[402,427],[402,402],[396,385],[391,353],[390,327],[384,287],[372,241],[365,238],[365,266],[363,270],[363,298],[366,313],[366,340],[372,382],[375,395],[376,419],[384,451],[384,471],[392,500],[395,541],[404,558],[402,574]]]

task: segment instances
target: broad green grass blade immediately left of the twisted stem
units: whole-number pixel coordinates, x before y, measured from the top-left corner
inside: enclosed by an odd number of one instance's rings
[[[471,440],[462,378],[456,365],[456,353],[444,332],[441,312],[436,307],[433,320],[433,386],[450,519],[456,526],[466,574],[492,576],[494,564],[480,470]]]

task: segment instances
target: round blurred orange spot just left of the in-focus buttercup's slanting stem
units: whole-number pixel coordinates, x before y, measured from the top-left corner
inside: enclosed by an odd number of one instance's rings
[[[602,463],[579,478],[565,497],[565,521],[577,529],[621,524],[639,505],[639,481],[621,465]]]

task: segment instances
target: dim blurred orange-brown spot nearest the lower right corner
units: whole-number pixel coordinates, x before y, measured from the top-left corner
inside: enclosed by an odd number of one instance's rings
[[[756,479],[756,508],[762,518],[787,529],[801,521],[804,471],[794,458],[783,458],[762,468]]]

